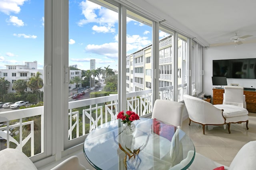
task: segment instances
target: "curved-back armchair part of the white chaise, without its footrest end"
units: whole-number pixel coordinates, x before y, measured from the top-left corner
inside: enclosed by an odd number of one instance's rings
[[[224,125],[226,123],[222,109],[218,109],[209,102],[187,94],[183,95],[183,99],[188,111],[189,125],[191,121],[201,124],[203,133],[205,125]]]

